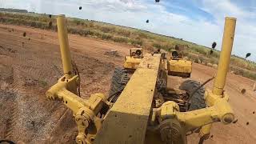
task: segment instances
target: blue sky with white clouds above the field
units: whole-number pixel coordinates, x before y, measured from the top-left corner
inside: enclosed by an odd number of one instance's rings
[[[0,7],[131,26],[204,46],[215,41],[218,50],[225,16],[235,17],[233,54],[250,52],[256,62],[256,0],[0,0]]]

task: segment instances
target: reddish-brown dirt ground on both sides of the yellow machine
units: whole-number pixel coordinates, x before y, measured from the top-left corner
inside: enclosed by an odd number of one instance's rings
[[[26,32],[26,37],[23,33]],[[70,34],[72,58],[82,78],[81,94],[108,93],[115,66],[122,66],[129,46]],[[118,55],[106,54],[118,50]],[[215,70],[194,64],[192,79],[204,82]],[[22,26],[0,25],[0,139],[26,143],[74,143],[77,134],[70,110],[46,100],[45,92],[62,76],[57,33]],[[176,78],[172,82],[182,82]],[[238,118],[236,124],[214,124],[206,143],[254,143],[256,141],[256,93],[254,82],[228,75],[226,91]],[[212,86],[212,82],[207,87]],[[241,94],[242,89],[246,94]],[[246,125],[249,122],[249,125]],[[194,134],[196,136],[196,134]],[[189,137],[198,143],[197,137]]]

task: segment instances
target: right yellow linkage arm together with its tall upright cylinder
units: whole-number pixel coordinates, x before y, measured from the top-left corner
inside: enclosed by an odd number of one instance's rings
[[[234,121],[234,112],[228,102],[229,96],[223,92],[226,82],[226,74],[230,64],[230,54],[234,41],[235,18],[226,18],[224,34],[222,40],[222,51],[219,59],[218,73],[214,81],[214,89],[206,90],[206,107],[201,110],[190,112],[179,112],[179,107],[175,102],[165,102],[160,109],[154,110],[153,115],[158,115],[162,121],[171,119],[181,126],[182,135],[197,127],[201,127],[200,136],[203,138],[210,134],[213,122],[229,124]],[[153,118],[155,119],[155,118]],[[207,137],[206,137],[207,138]],[[178,143],[186,143],[185,138],[179,139]]]

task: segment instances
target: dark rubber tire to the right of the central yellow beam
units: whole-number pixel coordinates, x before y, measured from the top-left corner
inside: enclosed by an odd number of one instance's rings
[[[188,94],[191,94],[199,86],[201,86],[199,82],[196,82],[193,80],[186,80],[182,82],[182,85],[179,86],[179,89],[186,90]],[[202,86],[197,92],[194,93],[193,97],[190,99],[189,111],[198,110],[206,107],[204,94],[205,94],[205,88]]]

